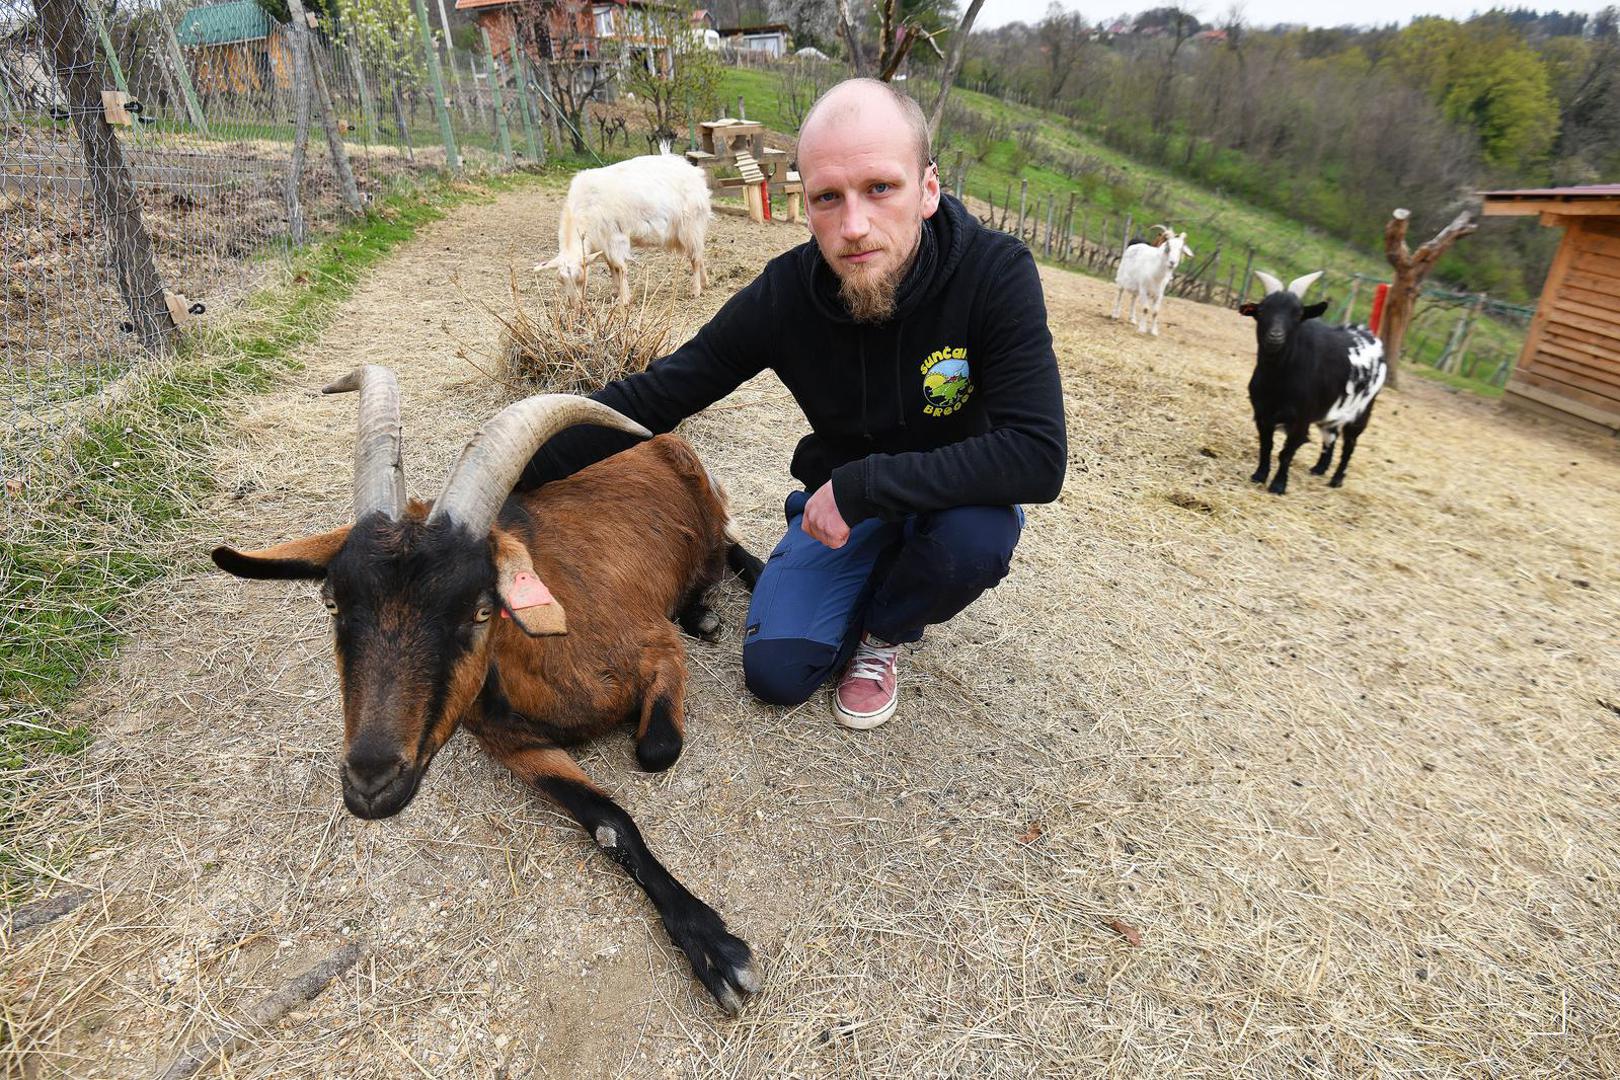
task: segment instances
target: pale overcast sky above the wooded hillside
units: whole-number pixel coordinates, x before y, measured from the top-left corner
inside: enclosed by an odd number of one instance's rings
[[[1079,11],[1089,23],[1100,23],[1116,15],[1136,15],[1150,8],[1168,6],[1171,0],[1063,0],[1063,8]],[[1205,23],[1218,23],[1231,8],[1231,0],[1183,0],[1184,6]],[[1306,26],[1385,26],[1408,23],[1418,15],[1445,15],[1468,18],[1474,11],[1490,8],[1533,8],[1537,11],[1602,11],[1615,0],[1239,0],[1244,23],[1273,26],[1277,23],[1304,23]],[[974,29],[995,29],[1008,23],[1038,23],[1051,0],[985,0]]]

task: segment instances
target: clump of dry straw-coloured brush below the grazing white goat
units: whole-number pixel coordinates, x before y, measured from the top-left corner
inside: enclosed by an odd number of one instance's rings
[[[570,304],[557,296],[525,301],[517,270],[512,309],[488,308],[501,321],[492,372],[501,382],[549,393],[590,393],[635,374],[669,351],[680,291],[674,280],[651,283],[640,300],[619,306],[606,296]]]

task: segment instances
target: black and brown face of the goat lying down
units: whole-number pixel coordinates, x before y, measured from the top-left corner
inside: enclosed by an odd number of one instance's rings
[[[449,520],[358,523],[321,597],[343,693],[343,803],[387,818],[416,795],[489,667],[489,538]]]

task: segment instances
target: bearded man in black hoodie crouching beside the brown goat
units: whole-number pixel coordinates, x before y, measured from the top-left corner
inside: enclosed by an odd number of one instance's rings
[[[672,355],[593,397],[654,432],[773,369],[810,423],[787,531],[753,591],[748,688],[872,729],[899,699],[899,646],[1008,572],[1019,504],[1063,486],[1063,392],[1035,261],[940,191],[928,125],[873,79],[829,89],[799,138],[813,243],[773,259]],[[629,439],[575,429],[523,486]]]

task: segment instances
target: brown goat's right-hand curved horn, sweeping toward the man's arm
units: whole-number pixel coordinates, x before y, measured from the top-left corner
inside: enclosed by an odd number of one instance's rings
[[[468,440],[428,520],[449,517],[475,536],[488,533],[535,452],[575,424],[599,424],[642,439],[653,437],[629,416],[572,393],[536,393],[514,402]]]

